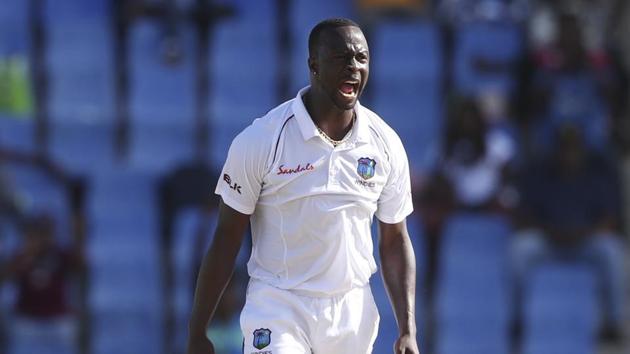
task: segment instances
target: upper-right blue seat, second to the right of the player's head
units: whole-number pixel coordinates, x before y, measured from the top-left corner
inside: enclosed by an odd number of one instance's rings
[[[466,94],[485,89],[512,92],[516,80],[514,70],[502,73],[482,73],[476,68],[476,60],[484,59],[503,64],[519,59],[524,41],[520,29],[507,23],[467,23],[455,33],[454,84]]]

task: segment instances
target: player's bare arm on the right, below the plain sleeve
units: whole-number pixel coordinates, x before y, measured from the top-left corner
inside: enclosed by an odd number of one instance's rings
[[[398,322],[396,354],[419,354],[416,342],[416,258],[407,233],[406,221],[379,223],[381,272]]]

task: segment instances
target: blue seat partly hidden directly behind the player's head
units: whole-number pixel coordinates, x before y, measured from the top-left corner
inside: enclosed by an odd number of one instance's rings
[[[307,66],[308,35],[311,29],[321,20],[328,17],[354,17],[354,6],[351,1],[338,0],[295,0],[291,4],[291,27],[293,34],[291,55],[291,91],[296,92],[308,85]]]

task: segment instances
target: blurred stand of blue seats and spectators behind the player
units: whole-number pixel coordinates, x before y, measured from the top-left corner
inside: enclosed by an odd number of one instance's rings
[[[0,353],[183,353],[217,171],[327,17],[409,156],[422,352],[628,352],[627,1],[0,0]]]

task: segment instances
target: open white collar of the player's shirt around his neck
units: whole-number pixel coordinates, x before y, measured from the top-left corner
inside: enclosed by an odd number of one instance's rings
[[[306,86],[301,89],[293,100],[293,114],[295,115],[295,119],[298,122],[300,132],[302,133],[302,137],[305,141],[319,136],[317,126],[315,126],[315,123],[313,122],[311,115],[306,110],[304,101],[302,100],[302,96],[304,96],[309,88],[310,86]],[[357,119],[352,127],[352,136],[350,137],[349,143],[365,143],[369,141],[368,117],[365,109],[363,109],[358,100],[354,106],[354,111],[356,112]]]

